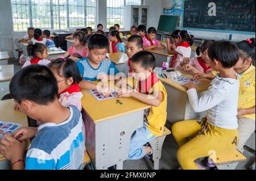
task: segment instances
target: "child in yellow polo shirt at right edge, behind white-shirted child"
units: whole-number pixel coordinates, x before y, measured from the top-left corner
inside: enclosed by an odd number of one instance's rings
[[[255,38],[236,43],[240,49],[240,59],[234,70],[240,81],[238,98],[238,132],[240,140],[237,149],[243,153],[243,146],[255,131]],[[194,77],[213,79],[216,71],[207,74],[196,74]],[[208,163],[207,166],[212,166]]]

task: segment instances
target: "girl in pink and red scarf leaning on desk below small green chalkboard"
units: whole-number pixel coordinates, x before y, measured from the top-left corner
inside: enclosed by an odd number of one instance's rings
[[[143,47],[144,50],[150,49],[165,49],[163,44],[155,39],[157,31],[154,27],[150,27],[147,30],[147,35],[143,38]]]

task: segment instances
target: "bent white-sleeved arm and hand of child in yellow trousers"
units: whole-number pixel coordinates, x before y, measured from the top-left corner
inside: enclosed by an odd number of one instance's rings
[[[226,89],[208,90],[203,96],[198,97],[196,86],[193,82],[185,85],[188,91],[188,99],[195,112],[203,112],[221,103],[226,97]]]

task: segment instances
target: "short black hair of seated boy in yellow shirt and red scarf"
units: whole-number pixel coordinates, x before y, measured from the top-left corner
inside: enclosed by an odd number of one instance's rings
[[[149,68],[154,69],[156,64],[154,55],[144,50],[134,54],[134,56],[131,57],[131,62],[134,62],[136,64],[141,64],[141,66],[145,70]]]

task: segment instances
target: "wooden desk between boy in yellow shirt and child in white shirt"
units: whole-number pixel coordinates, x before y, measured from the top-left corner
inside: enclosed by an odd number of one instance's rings
[[[185,77],[191,78],[192,75],[181,71]],[[163,82],[164,87],[167,91],[167,120],[171,123],[176,123],[182,120],[200,119],[204,115],[202,113],[196,113],[193,111],[188,95],[187,88],[172,79],[160,78]],[[204,94],[203,92],[208,90],[210,81],[208,79],[202,79],[200,85],[196,86],[199,95]]]

